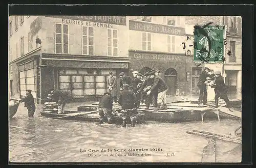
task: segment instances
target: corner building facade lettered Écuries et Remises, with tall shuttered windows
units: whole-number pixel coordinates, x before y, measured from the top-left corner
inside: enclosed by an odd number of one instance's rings
[[[31,89],[44,103],[54,88],[97,100],[107,90],[110,71],[129,69],[126,21],[125,16],[10,16],[10,96]]]

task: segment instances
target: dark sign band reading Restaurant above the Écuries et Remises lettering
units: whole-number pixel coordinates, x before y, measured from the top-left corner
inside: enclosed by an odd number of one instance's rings
[[[126,25],[126,16],[46,16],[46,17]]]

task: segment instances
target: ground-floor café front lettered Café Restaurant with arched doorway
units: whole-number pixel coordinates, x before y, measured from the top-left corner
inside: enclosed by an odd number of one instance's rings
[[[169,87],[167,95],[197,95],[197,81],[203,65],[196,66],[193,57],[167,52],[130,50],[130,75],[132,71],[144,74],[160,70],[160,76]]]

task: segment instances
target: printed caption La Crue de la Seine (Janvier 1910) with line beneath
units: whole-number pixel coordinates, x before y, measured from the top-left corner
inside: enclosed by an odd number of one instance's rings
[[[162,148],[140,148],[140,149],[80,149],[80,152],[88,154],[88,157],[120,157],[120,156],[152,156],[152,153],[162,153]],[[164,154],[166,155],[166,154]],[[166,156],[175,156],[174,153]]]

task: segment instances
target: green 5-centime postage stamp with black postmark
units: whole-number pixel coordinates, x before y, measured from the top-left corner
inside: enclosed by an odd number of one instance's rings
[[[222,63],[225,61],[226,26],[194,26],[194,61]]]

